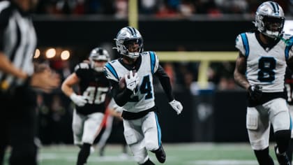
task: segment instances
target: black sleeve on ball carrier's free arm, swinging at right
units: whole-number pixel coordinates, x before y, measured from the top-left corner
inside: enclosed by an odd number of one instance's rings
[[[171,82],[170,82],[170,78],[167,75],[167,73],[164,71],[163,67],[158,65],[158,69],[155,73],[155,76],[158,77],[158,79],[160,80],[160,85],[162,85],[165,94],[167,95],[167,99],[168,101],[172,101],[174,100],[174,96],[172,94],[172,86],[171,86]]]

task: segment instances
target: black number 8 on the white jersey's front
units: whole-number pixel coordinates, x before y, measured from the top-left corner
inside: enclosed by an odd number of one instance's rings
[[[257,79],[260,82],[272,82],[275,80],[276,60],[273,57],[262,57],[258,62]]]

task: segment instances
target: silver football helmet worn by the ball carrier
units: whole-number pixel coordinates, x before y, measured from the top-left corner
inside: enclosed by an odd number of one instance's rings
[[[113,49],[117,49],[119,54],[130,57],[131,59],[136,59],[140,56],[140,53],[143,52],[143,39],[140,31],[135,29],[134,27],[123,27],[117,34],[117,37],[114,38],[116,41],[116,47]],[[139,50],[136,52],[130,52],[128,47],[137,43],[139,45]]]

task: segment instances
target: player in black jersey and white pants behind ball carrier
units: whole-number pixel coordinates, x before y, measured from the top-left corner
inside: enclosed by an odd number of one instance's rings
[[[73,138],[80,146],[77,165],[87,162],[91,145],[95,140],[105,113],[105,102],[110,84],[103,74],[103,66],[110,61],[107,50],[94,48],[89,55],[89,62],[75,66],[75,71],[62,83],[61,89],[75,103],[73,113]],[[80,92],[73,90],[79,85]]]

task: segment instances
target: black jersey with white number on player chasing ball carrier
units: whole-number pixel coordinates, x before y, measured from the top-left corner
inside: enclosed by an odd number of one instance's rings
[[[89,115],[96,112],[105,112],[106,100],[109,96],[110,83],[103,72],[91,69],[90,64],[80,63],[75,66],[75,73],[80,78],[79,94],[87,96],[84,106],[76,106],[77,113]]]

